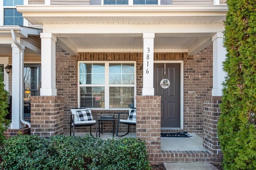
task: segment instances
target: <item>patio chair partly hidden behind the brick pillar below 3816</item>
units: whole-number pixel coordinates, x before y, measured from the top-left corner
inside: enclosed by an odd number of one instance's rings
[[[127,119],[120,119],[120,114],[129,114]],[[128,125],[128,131],[124,135],[118,135],[119,124]],[[129,133],[130,125],[136,126],[136,108],[130,108],[129,113],[118,113],[116,136],[125,136]]]

